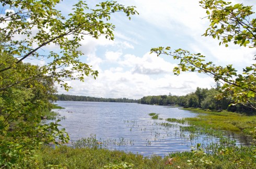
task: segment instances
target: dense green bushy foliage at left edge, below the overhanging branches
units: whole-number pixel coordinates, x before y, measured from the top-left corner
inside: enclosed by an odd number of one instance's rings
[[[21,77],[27,77],[27,74],[30,75],[24,68],[39,71],[38,66],[19,63],[15,70],[8,69],[0,73],[0,77],[4,77],[2,82],[5,84],[9,80],[17,81]],[[55,92],[54,83],[47,76],[40,77],[39,81],[19,83],[15,87],[0,91],[1,167],[12,167],[18,160],[30,160],[31,154],[42,143],[56,142],[56,138],[63,143],[68,141],[65,130],[58,128],[58,121],[41,123],[44,112],[51,109],[49,100],[54,99],[52,94]]]

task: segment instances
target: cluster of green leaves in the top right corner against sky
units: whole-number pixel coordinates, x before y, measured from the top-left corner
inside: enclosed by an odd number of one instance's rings
[[[201,6],[206,10],[210,27],[203,35],[220,40],[219,44],[234,42],[240,46],[256,47],[256,20],[252,6],[231,5],[231,2],[203,0]]]

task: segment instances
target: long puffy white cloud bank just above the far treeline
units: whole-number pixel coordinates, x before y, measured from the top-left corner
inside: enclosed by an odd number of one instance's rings
[[[185,95],[196,87],[211,88],[214,81],[210,77],[200,77],[197,74],[184,73],[179,77],[166,75],[154,79],[147,75],[132,74],[130,71],[107,70],[93,80],[87,78],[82,83],[72,81],[73,89],[68,94],[90,95],[102,98],[131,98],[140,99],[146,95],[173,94]],[[60,93],[65,93],[63,89]]]

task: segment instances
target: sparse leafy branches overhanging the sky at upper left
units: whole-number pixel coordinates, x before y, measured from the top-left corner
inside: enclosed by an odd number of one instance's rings
[[[104,35],[113,40],[114,25],[107,22],[110,15],[122,11],[131,19],[131,15],[137,14],[133,6],[124,7],[112,1],[102,2],[96,5],[96,9],[90,9],[83,1],[79,1],[74,5],[72,13],[68,14],[68,18],[55,9],[60,0],[0,2],[3,6],[2,12],[8,9],[5,14],[1,13],[0,24],[4,26],[0,28],[0,45],[6,55],[15,56],[14,59],[6,58],[0,73],[14,69],[25,59],[50,58],[52,61],[40,67],[40,75],[51,76],[66,90],[69,86],[64,82],[65,79],[84,81],[84,76],[98,75],[97,70],[92,70],[91,66],[79,61],[79,56],[83,55],[77,50],[79,42],[87,35],[96,39]],[[39,50],[46,50],[46,45],[55,45],[55,50],[41,54]],[[38,75],[10,83],[1,90],[35,76]]]

